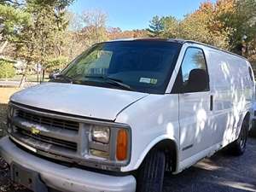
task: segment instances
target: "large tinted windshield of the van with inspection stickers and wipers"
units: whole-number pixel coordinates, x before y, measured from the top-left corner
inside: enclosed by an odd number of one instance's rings
[[[163,94],[181,46],[166,41],[96,44],[64,69],[59,80]]]

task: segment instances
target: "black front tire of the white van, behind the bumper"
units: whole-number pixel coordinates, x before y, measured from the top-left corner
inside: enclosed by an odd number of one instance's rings
[[[137,192],[161,192],[165,168],[165,153],[160,150],[149,152],[137,174]]]

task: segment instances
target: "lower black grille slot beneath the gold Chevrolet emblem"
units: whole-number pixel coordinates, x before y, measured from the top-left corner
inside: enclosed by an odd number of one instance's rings
[[[33,139],[41,142],[41,143],[49,143],[52,145],[56,145],[58,147],[61,148],[68,148],[71,149],[73,151],[76,151],[78,148],[78,144],[77,143],[73,143],[73,142],[68,142],[62,139],[57,139],[54,137],[47,137],[47,136],[43,136],[43,135],[34,135],[31,133],[31,131],[26,131],[22,128],[19,128],[16,126],[16,133],[18,133],[20,136],[22,137],[32,137]]]

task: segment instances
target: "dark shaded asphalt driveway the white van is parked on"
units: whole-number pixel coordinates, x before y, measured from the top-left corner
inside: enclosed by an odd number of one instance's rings
[[[28,192],[9,181],[0,160],[0,191]],[[256,138],[249,138],[246,153],[234,157],[218,152],[178,175],[166,174],[165,192],[256,192]]]

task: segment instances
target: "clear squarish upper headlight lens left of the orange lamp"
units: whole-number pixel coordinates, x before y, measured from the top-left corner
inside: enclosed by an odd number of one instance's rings
[[[108,127],[95,126],[91,131],[92,140],[98,143],[109,143],[110,131]]]

